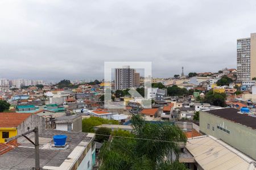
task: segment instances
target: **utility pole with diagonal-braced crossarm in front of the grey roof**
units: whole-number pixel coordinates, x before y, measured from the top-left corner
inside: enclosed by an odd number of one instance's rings
[[[27,134],[30,134],[30,133],[35,133],[35,143],[33,141],[31,141],[31,139],[26,136]],[[19,137],[26,138],[28,141],[30,141],[30,143],[32,143],[35,146],[35,169],[40,170],[38,127],[35,127],[35,129],[33,129],[33,130],[28,130],[27,132],[25,132],[23,134],[16,135],[15,137],[7,138],[7,139],[5,139],[5,142],[13,141],[14,139],[18,139]]]

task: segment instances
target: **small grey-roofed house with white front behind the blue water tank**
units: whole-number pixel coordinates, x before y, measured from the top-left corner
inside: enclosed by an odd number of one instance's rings
[[[56,130],[64,131],[82,131],[82,116],[81,115],[71,115],[71,116],[61,116],[55,118]]]

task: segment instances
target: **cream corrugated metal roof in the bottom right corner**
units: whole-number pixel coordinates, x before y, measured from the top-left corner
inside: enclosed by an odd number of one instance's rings
[[[256,170],[253,159],[209,135],[188,139],[186,148],[203,169]]]

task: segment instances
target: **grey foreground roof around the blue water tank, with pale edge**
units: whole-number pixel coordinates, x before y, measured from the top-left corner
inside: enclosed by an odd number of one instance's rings
[[[53,143],[53,136],[57,134],[67,135],[66,150],[52,150],[49,147],[49,143]],[[47,130],[39,135],[40,167],[71,169],[94,136],[90,133]],[[35,150],[34,145],[28,141],[0,156],[0,169],[31,169],[32,167],[35,167]]]

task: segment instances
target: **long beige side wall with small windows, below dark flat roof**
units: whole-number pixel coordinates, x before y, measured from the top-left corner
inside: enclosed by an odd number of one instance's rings
[[[209,126],[208,126],[209,124]],[[217,125],[230,131],[217,129]],[[209,127],[209,129],[208,129]],[[214,127],[214,130],[213,130]],[[221,139],[244,154],[256,159],[256,130],[221,117],[200,111],[200,131]]]

